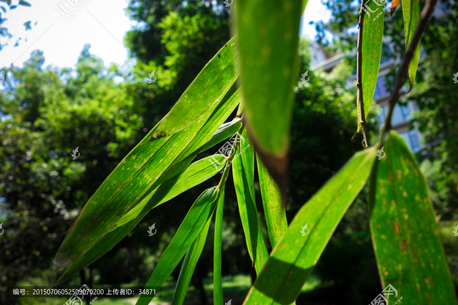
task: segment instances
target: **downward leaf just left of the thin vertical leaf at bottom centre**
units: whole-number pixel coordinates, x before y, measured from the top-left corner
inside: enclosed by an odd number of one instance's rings
[[[224,190],[222,191],[218,206],[221,201],[224,201]],[[204,249],[211,221],[211,218],[207,220],[207,223],[205,224],[201,233],[199,233],[197,238],[195,238],[191,247],[189,247],[188,252],[186,252],[185,258],[183,259],[183,264],[181,265],[180,275],[178,276],[177,286],[175,287],[171,305],[183,304],[184,298],[186,296],[186,291],[188,290],[189,282],[191,281],[192,273],[195,269],[195,265],[197,264],[197,261],[202,254],[202,250]]]

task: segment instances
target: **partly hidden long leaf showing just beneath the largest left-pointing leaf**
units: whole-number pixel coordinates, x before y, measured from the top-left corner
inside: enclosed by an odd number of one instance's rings
[[[191,163],[195,156],[199,153],[202,145],[204,145],[209,139],[210,135],[214,134],[217,130],[217,126],[220,126],[223,121],[227,118],[228,115],[237,107],[239,99],[234,95],[231,98],[223,99],[219,105],[212,111],[210,118],[206,119],[204,126],[198,131],[198,133],[193,137],[189,144],[182,150],[181,154],[178,155],[174,161],[173,166],[169,166],[165,172],[159,177],[159,179],[153,184],[148,191],[145,192],[144,196],[141,196],[138,200],[141,202],[144,200],[154,189],[159,185],[164,183],[166,180],[175,177],[180,174],[185,168]],[[193,131],[194,127],[191,127],[189,130]],[[148,136],[144,139],[148,141]],[[158,141],[162,141],[159,139]],[[155,142],[158,142],[155,141]],[[146,145],[145,145],[146,146]],[[138,147],[138,146],[137,146]],[[209,164],[211,164],[209,162]],[[119,167],[119,166],[118,166]],[[115,169],[116,170],[116,169]],[[102,184],[103,185],[103,184]],[[159,202],[163,197],[158,193],[156,200]],[[74,272],[78,271],[84,266],[87,266],[97,260],[99,257],[108,252],[113,248],[118,242],[120,242],[136,225],[140,222],[141,219],[145,217],[149,210],[143,210],[140,215],[127,223],[123,227],[119,227],[116,230],[107,233],[104,235],[97,243],[97,247],[92,247],[87,253],[84,253],[81,257],[75,260],[68,268],[65,270],[64,275],[61,276],[58,283],[63,282],[65,279],[70,277]],[[113,224],[113,225],[116,225]],[[107,229],[111,230],[111,227]]]

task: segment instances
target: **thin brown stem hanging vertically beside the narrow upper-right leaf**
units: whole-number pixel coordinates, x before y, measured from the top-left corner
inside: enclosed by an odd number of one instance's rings
[[[362,94],[362,33],[363,33],[363,22],[364,22],[364,10],[363,10],[364,0],[361,0],[361,8],[359,10],[359,32],[358,32],[358,45],[357,45],[357,83],[356,87],[358,88],[358,103],[359,103],[359,115],[361,127],[363,129],[363,137],[364,137],[364,145],[369,147],[369,136],[367,134],[367,126],[366,126],[366,116],[364,115],[364,102],[363,102],[363,94]]]

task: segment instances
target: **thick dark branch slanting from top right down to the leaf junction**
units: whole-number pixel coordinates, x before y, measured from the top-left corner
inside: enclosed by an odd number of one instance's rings
[[[391,129],[391,117],[393,116],[394,106],[396,105],[397,100],[399,98],[399,90],[403,87],[406,81],[410,61],[413,58],[414,51],[420,41],[421,35],[423,35],[428,20],[430,20],[430,17],[434,12],[434,7],[436,6],[436,3],[437,0],[426,0],[423,10],[421,11],[420,22],[418,23],[417,29],[415,29],[415,33],[412,37],[412,40],[410,41],[409,48],[407,49],[406,55],[404,55],[403,62],[399,70],[397,71],[396,80],[394,82],[394,89],[388,102],[389,109],[388,113],[386,114],[385,124],[380,132],[380,143],[383,143],[383,138],[386,132],[388,132]]]

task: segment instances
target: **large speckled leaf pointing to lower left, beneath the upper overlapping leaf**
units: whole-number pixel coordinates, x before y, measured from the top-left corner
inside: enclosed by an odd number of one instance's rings
[[[144,138],[121,161],[81,210],[55,256],[55,268],[68,265],[88,251],[147,195],[166,169],[177,163],[177,157],[209,119],[209,112],[181,133],[141,145],[148,142]]]

